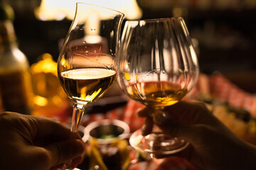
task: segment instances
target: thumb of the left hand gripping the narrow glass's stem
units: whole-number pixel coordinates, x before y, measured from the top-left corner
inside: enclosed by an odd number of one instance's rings
[[[85,144],[78,139],[54,142],[45,148],[50,154],[50,164],[52,166],[78,157],[85,152]]]

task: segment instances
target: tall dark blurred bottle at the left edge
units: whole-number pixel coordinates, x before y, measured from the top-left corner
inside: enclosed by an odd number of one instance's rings
[[[31,113],[31,75],[26,56],[18,49],[14,11],[0,2],[0,110]]]

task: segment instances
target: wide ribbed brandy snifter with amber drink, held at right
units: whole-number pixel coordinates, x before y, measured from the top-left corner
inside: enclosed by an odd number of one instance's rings
[[[180,101],[198,78],[196,52],[181,17],[126,21],[119,56],[119,86],[154,114]],[[145,137],[142,130],[135,131],[129,142],[151,155],[174,154],[188,146],[156,125]]]

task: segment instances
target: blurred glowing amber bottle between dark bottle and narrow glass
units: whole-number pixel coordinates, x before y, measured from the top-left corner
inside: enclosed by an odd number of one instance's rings
[[[55,118],[65,123],[72,113],[68,96],[60,86],[57,75],[57,63],[45,53],[38,57],[38,62],[31,65],[33,86],[32,115]]]

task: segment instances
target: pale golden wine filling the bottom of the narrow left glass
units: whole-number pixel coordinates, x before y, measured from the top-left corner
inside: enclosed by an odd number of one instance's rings
[[[105,68],[70,69],[60,73],[65,92],[77,102],[92,102],[100,98],[114,83],[116,71]]]

